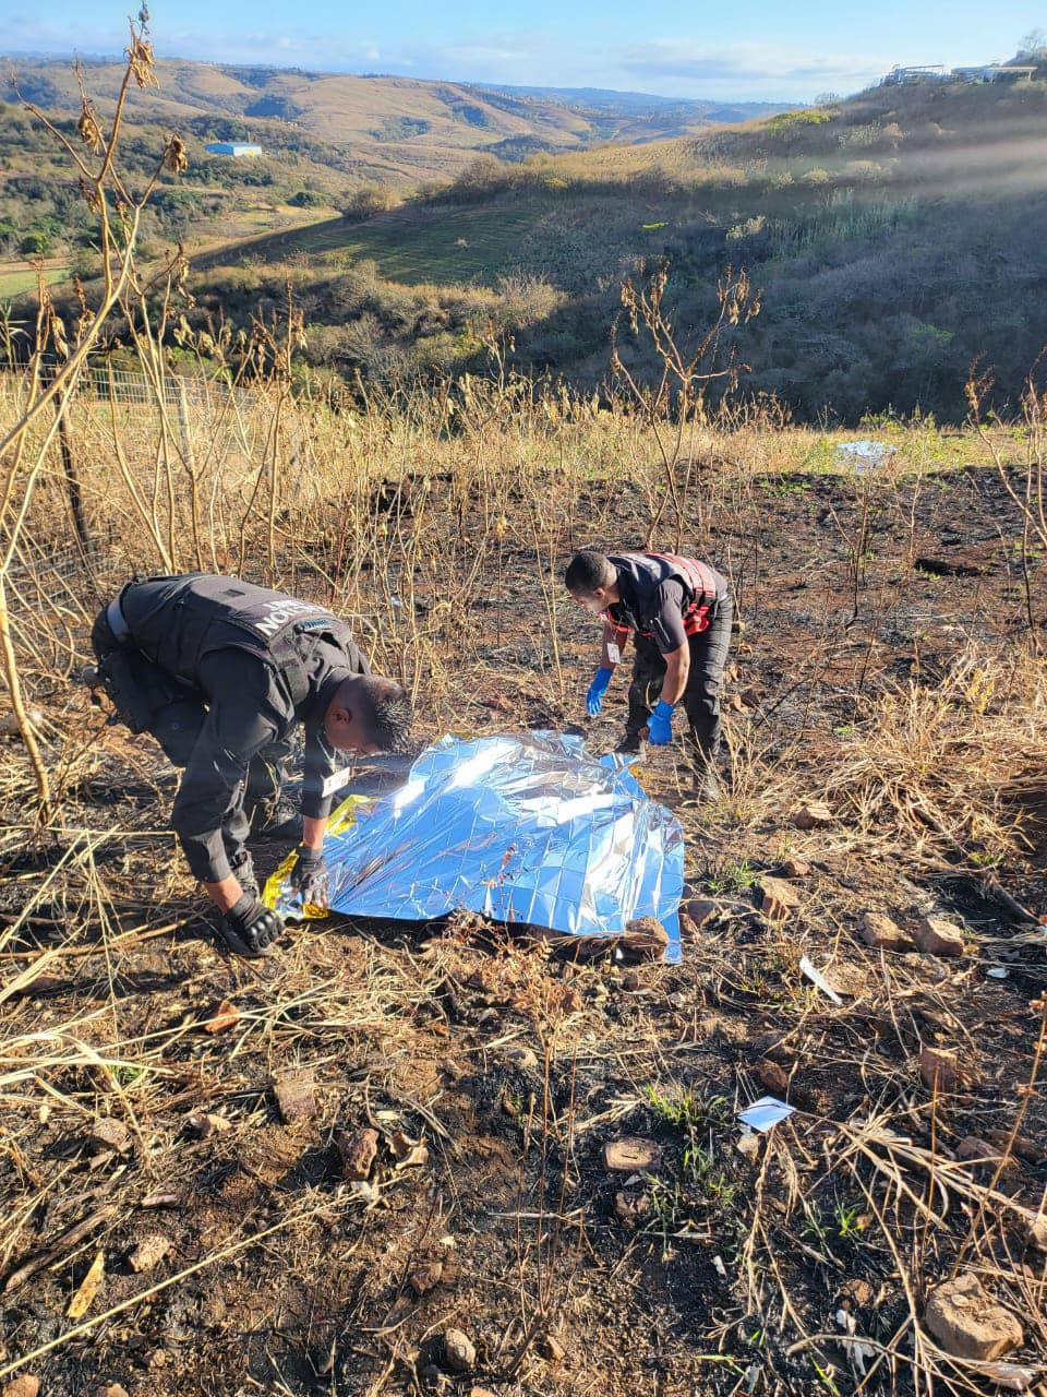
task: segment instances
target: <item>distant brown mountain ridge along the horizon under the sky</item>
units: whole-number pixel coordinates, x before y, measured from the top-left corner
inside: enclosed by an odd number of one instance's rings
[[[85,59],[82,67],[92,96],[116,98],[123,63]],[[68,60],[21,59],[14,68],[28,101],[50,112],[78,110]],[[369,177],[396,184],[454,176],[484,151],[519,158],[535,149],[648,142],[783,110],[773,103],[691,102],[599,88],[517,88],[183,59],[159,59],[156,74],[159,89],[137,94],[135,120],[191,122],[200,131],[211,119],[215,136],[226,138],[229,123],[239,122],[240,138],[275,145],[285,144],[282,134],[292,127],[339,147],[342,158]],[[0,101],[15,96],[4,71]]]

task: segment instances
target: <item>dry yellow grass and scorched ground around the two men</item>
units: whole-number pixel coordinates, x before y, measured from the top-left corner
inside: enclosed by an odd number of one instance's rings
[[[4,419],[20,391],[3,383]],[[1043,932],[977,897],[987,870],[1036,895],[1043,675],[991,633],[995,602],[977,638],[942,631],[934,664],[892,679],[884,616],[843,624],[845,528],[810,562],[821,619],[779,624],[786,555],[752,576],[769,500],[792,511],[793,552],[811,546],[817,490],[833,492],[845,524],[861,502],[824,467],[803,472],[824,454],[808,433],[695,433],[716,469],[697,475],[684,542],[733,571],[750,620],[732,692],[761,693],[730,711],[722,805],[690,802],[683,763],[645,771],[684,820],[697,891],[722,907],[684,964],[575,965],[452,921],[310,928],[258,970],[209,946],[165,830],[173,774],[68,683],[96,599],[155,569],[161,546],[179,567],[198,546],[207,567],[243,556],[250,576],[348,615],[376,666],[416,687],[423,735],[560,726],[593,641],[564,610],[558,569],[581,542],[641,542],[630,529],[662,504],[662,467],[624,412],[532,400],[512,380],[477,383],[454,409],[419,395],[348,409],[279,383],[193,390],[186,436],[177,397],[145,390],[131,407],[120,391],[68,407],[95,550],[85,560],[71,543],[49,457],[10,584],[54,813],[34,834],[32,771],[8,742],[0,1261],[18,1284],[0,1375],[225,1393],[235,1365],[244,1393],[419,1393],[455,1323],[477,1345],[477,1382],[500,1394],[617,1394],[652,1373],[673,1394],[974,1391],[977,1369],[923,1326],[928,1288],[959,1267],[1025,1317],[1025,1359],[1043,1356],[1043,1267],[1020,1239],[1044,1190],[1043,1154],[1027,1154],[1047,1129],[1027,1007]],[[895,553],[881,545],[863,598],[937,517],[920,495],[934,443],[903,446],[877,496]],[[946,479],[963,511],[963,474]],[[706,536],[690,531],[697,514]],[[937,587],[944,617],[969,612],[965,585],[983,583],[913,577],[913,604]],[[593,740],[607,736],[597,726]],[[794,828],[817,796],[833,823]],[[771,925],[752,886],[786,858],[811,870],[800,909]],[[965,921],[977,956],[951,965],[854,937],[861,911],[906,921],[931,905]],[[803,954],[845,990],[842,1007],[803,978]],[[987,979],[987,964],[1011,978]],[[212,1037],[201,1024],[222,999],[239,1018]],[[927,1042],[955,1048],[974,1084],[930,1092],[916,1069]],[[741,1154],[734,1111],[766,1090],[768,1055],[799,1109]],[[285,1126],[271,1084],[297,1066],[318,1113]],[[187,1122],[201,1109],[229,1129],[197,1139]],[[91,1153],[98,1116],[127,1126],[128,1155]],[[334,1151],[336,1129],[367,1123],[374,1192],[345,1182]],[[398,1129],[429,1147],[422,1169],[396,1166]],[[956,1160],[965,1134],[990,1132],[998,1162]],[[635,1225],[617,1220],[623,1180],[600,1162],[618,1133],[664,1151],[634,1185],[646,1199]],[[155,1231],[173,1250],[134,1275],[128,1248]],[[59,1316],[98,1252],[106,1288],[74,1326]],[[409,1275],[436,1260],[441,1281],[415,1298]],[[871,1299],[849,1334],[835,1316],[854,1281]],[[564,1356],[549,1356],[547,1334]]]

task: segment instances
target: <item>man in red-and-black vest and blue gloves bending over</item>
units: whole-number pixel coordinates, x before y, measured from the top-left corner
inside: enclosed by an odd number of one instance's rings
[[[718,795],[720,683],[734,616],[727,580],[713,567],[673,553],[575,553],[567,590],[603,620],[600,668],[586,694],[595,718],[630,634],[635,636],[628,721],[618,752],[646,740],[673,740],[673,710],[683,700],[691,739],[702,763],[699,791]],[[652,711],[653,710],[653,711]]]

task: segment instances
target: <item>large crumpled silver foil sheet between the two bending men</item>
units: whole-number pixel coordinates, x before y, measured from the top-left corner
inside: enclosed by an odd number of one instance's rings
[[[666,958],[680,958],[680,821],[581,738],[441,738],[403,787],[356,802],[324,842],[332,911],[416,921],[468,909],[574,936],[620,936],[656,916]],[[300,916],[283,872],[267,893]]]

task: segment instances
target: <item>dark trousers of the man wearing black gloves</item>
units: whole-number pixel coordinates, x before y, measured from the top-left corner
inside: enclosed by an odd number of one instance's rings
[[[134,644],[120,644],[103,608],[91,630],[91,645],[121,722],[131,732],[149,732],[172,766],[184,768],[207,719],[207,696],[155,665]],[[119,678],[110,680],[106,659],[116,657]],[[290,742],[275,742],[254,757],[247,780],[233,792],[222,820],[222,842],[230,866],[242,866],[244,844],[257,809],[274,800],[290,777]]]

